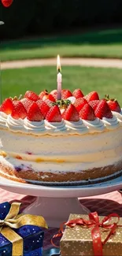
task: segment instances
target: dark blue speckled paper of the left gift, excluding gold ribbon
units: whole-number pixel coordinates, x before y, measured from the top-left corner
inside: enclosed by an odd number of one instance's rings
[[[10,210],[9,202],[0,204],[0,220],[4,220]],[[13,228],[23,239],[23,255],[13,254],[13,243],[0,233],[0,256],[42,256],[43,255],[43,228],[34,225],[24,225]],[[16,241],[15,241],[16,243]]]

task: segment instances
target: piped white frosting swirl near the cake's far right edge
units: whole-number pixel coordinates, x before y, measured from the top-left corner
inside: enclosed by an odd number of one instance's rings
[[[113,130],[119,127],[119,121],[117,120],[117,118],[115,116],[113,116],[113,118],[106,118],[103,117],[102,118],[103,123],[105,124],[106,128],[108,130]]]

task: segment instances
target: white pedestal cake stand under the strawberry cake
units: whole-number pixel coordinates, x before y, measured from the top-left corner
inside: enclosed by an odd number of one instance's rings
[[[20,184],[0,177],[0,187],[7,191],[37,196],[24,213],[42,215],[50,227],[58,227],[68,220],[70,213],[89,213],[79,203],[79,197],[102,195],[122,188],[122,177],[111,181],[87,186],[45,187],[33,184]]]

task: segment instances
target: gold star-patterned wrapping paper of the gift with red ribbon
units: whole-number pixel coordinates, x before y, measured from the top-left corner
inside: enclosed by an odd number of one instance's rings
[[[87,221],[89,220],[87,215],[70,214],[68,221],[81,217]],[[99,217],[99,220],[102,221],[103,217]],[[116,217],[113,217],[112,221],[116,221]],[[118,224],[122,225],[122,218],[120,218]],[[91,230],[92,228],[85,228],[79,225],[76,225],[74,228],[66,227],[60,242],[61,256],[93,256],[94,250]],[[109,234],[109,229],[100,228],[100,233],[102,241],[104,241]],[[96,245],[98,246],[97,241]],[[122,227],[116,228],[115,234],[102,246],[102,255],[122,255]]]

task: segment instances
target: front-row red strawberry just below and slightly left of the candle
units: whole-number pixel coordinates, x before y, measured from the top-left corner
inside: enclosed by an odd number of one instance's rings
[[[58,106],[52,106],[46,115],[46,120],[49,122],[61,122],[61,112]]]

